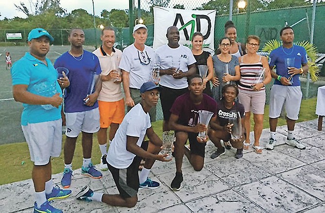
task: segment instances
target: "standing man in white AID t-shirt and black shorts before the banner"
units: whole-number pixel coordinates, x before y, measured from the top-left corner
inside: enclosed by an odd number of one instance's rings
[[[187,77],[195,75],[196,60],[191,49],[179,45],[179,29],[171,26],[167,29],[168,44],[157,49],[160,62],[160,85],[162,87],[160,100],[162,103],[162,131],[170,130],[168,120],[170,109],[177,97],[188,91]]]

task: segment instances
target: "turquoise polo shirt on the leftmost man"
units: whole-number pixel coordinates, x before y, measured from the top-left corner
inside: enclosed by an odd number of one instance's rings
[[[52,97],[62,90],[57,82],[58,73],[53,67],[51,61],[46,58],[47,66],[40,60],[33,57],[29,52],[14,63],[11,68],[13,85],[28,85],[27,91],[39,96]],[[41,123],[53,121],[61,118],[61,106],[59,108],[50,105],[31,105],[23,103],[23,112],[21,114],[21,125],[28,123]]]

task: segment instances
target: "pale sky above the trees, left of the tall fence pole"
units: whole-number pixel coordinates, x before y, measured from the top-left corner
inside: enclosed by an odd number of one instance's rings
[[[35,0],[32,0],[35,2]],[[29,0],[0,0],[0,19],[4,17],[14,18],[16,16],[26,18],[26,16],[16,10],[14,4],[20,5],[20,2],[24,2],[29,7]],[[82,8],[89,14],[93,14],[93,2],[92,0],[61,0],[61,7],[66,9],[67,12]],[[100,12],[103,9],[111,11],[112,9],[128,9],[129,0],[94,0],[95,14],[100,16]]]

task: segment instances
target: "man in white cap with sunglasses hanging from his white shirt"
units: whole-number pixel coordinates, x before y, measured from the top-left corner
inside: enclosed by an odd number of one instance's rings
[[[137,24],[133,28],[134,43],[123,50],[119,68],[123,75],[125,103],[128,111],[141,101],[140,87],[150,80],[151,64],[154,51],[145,45],[148,29],[144,24]],[[151,121],[156,121],[156,107],[150,112]]]

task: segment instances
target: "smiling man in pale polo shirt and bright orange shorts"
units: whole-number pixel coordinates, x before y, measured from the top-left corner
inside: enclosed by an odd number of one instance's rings
[[[102,86],[98,95],[100,129],[97,134],[99,149],[101,152],[99,168],[108,170],[107,164],[103,164],[102,158],[107,154],[107,128],[109,141],[112,142],[117,128],[124,118],[125,107],[121,88],[121,71],[118,64],[122,57],[122,51],[113,47],[115,32],[112,27],[105,27],[101,31],[102,45],[93,53],[97,55],[101,67]]]

